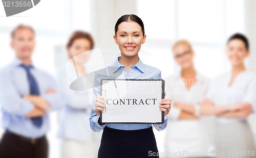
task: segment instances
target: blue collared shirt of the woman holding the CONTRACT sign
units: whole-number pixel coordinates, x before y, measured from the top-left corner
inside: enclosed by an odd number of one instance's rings
[[[129,74],[125,69],[125,66],[119,63],[121,57],[118,57],[115,64],[112,66],[112,71],[108,71],[108,73],[101,73],[100,71],[95,73],[95,81],[94,81],[94,92],[93,92],[93,107],[92,107],[92,115],[90,117],[90,126],[94,131],[100,131],[105,126],[115,129],[121,130],[136,130],[136,129],[144,129],[149,128],[152,124],[126,124],[126,123],[106,123],[104,125],[100,125],[98,123],[99,116],[94,112],[96,97],[100,95],[100,80],[101,78],[115,78],[117,77],[117,73],[121,74],[118,78],[122,79],[161,79],[161,71],[155,67],[143,64],[139,59],[138,63],[134,66],[131,66],[129,70]],[[153,124],[157,130],[163,130],[167,126],[167,116],[164,116],[163,124]]]

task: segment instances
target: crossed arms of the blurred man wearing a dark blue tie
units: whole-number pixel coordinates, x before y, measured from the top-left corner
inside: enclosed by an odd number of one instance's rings
[[[20,96],[11,80],[12,75],[9,69],[0,71],[0,103],[5,112],[17,116],[37,117],[46,115],[48,111],[59,110],[65,104],[62,95],[57,93],[58,87],[52,76],[46,74],[49,89],[44,94]]]

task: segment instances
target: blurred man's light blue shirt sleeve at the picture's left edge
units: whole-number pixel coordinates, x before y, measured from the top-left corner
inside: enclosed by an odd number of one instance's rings
[[[22,98],[15,89],[8,70],[0,72],[0,103],[11,114],[24,116],[34,109],[34,105]]]

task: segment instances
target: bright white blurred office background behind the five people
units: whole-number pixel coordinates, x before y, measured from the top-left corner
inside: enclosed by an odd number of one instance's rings
[[[36,7],[5,17],[0,5],[0,67],[10,63],[10,32],[19,23],[29,24],[36,31],[33,62],[55,74],[67,61],[66,42],[75,30],[90,32],[102,51],[106,65],[120,54],[113,40],[114,25],[124,14],[136,14],[144,22],[146,42],[140,51],[145,64],[162,71],[162,77],[178,71],[170,47],[181,38],[188,39],[196,51],[195,66],[209,78],[229,70],[225,56],[227,38],[244,33],[251,43],[247,68],[256,72],[256,1],[253,0],[42,0]],[[256,117],[251,116],[250,122]],[[256,134],[256,125],[251,123]],[[58,113],[51,115],[50,157],[59,157],[56,138]],[[165,131],[155,131],[159,151],[163,151]],[[3,129],[0,130],[0,134]]]

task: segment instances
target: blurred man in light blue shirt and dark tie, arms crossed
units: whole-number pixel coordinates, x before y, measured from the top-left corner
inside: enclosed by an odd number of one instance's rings
[[[35,32],[18,25],[11,34],[14,61],[0,70],[5,133],[0,157],[48,157],[49,113],[62,107],[54,78],[34,66]]]

